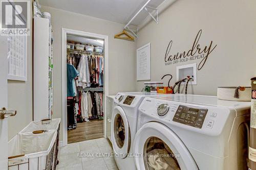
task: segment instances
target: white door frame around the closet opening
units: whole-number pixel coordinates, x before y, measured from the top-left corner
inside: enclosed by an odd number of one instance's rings
[[[104,138],[106,138],[106,96],[109,95],[109,36],[83,32],[78,30],[71,30],[61,28],[61,61],[62,61],[62,146],[68,144],[68,130],[67,130],[67,34],[76,35],[88,38],[97,38],[104,40],[104,74],[103,74],[103,96],[104,96]]]

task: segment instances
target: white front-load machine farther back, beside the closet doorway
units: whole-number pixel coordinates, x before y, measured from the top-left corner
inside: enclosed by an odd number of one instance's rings
[[[123,92],[115,96],[111,120],[111,138],[115,160],[120,170],[136,169],[133,155],[133,140],[137,132],[139,105],[146,96],[168,95],[177,94]]]

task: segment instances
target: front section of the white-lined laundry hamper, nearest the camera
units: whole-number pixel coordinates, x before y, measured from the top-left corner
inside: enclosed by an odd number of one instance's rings
[[[9,170],[55,169],[54,150],[57,131],[45,133],[18,133],[8,142]]]

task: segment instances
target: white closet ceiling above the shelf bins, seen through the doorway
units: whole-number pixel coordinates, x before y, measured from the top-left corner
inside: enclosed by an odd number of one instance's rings
[[[91,44],[95,46],[103,47],[104,41],[100,39],[90,39],[86,37],[80,37],[75,35],[67,35],[67,41],[81,42],[83,45]]]

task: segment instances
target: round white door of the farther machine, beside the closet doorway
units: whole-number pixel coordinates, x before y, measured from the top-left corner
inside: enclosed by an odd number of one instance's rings
[[[111,124],[113,150],[119,158],[125,158],[130,152],[131,135],[128,120],[120,106],[114,107]]]

